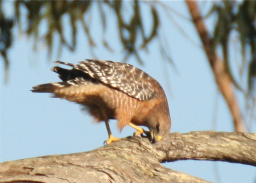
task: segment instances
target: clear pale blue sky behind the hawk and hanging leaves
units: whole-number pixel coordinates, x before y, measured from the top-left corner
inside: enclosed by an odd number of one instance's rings
[[[189,17],[183,1],[163,3]],[[11,4],[12,1],[5,2],[5,5],[8,5],[6,11],[12,12]],[[143,10],[146,11],[147,9]],[[115,50],[114,53],[108,52],[100,44],[102,29],[95,6],[92,15],[90,27],[98,45],[95,49],[97,57],[102,60],[122,61],[124,52],[115,29],[114,15],[111,13],[109,15],[111,18],[106,32],[106,39]],[[143,17],[147,18],[146,26],[150,26],[150,19],[145,15]],[[162,31],[166,41],[169,42],[169,50],[177,70],[170,63],[163,62],[156,40],[151,43],[148,53],[142,52],[142,58],[146,61],[144,66],[139,65],[134,57],[128,62],[145,70],[162,84],[170,107],[171,132],[233,131],[231,116],[216,88],[194,26],[189,21],[174,16],[196,45],[184,37],[168,19],[166,13],[162,12],[160,17]],[[207,22],[209,28],[212,28],[212,20]],[[65,18],[64,21],[69,20]],[[101,147],[103,141],[107,139],[104,123],[94,124],[93,119],[82,112],[77,104],[50,98],[49,94],[29,91],[34,85],[59,81],[57,74],[50,71],[54,66],[52,61],[77,63],[85,58],[93,58],[85,33],[78,32],[76,52],[72,53],[64,48],[60,57],[57,57],[58,39],[55,39],[53,56],[48,58],[46,46],[42,42],[35,53],[32,51],[33,40],[27,36],[20,36],[17,27],[14,30],[15,41],[9,51],[11,65],[7,85],[4,84],[4,64],[1,58],[0,161],[83,152]],[[40,31],[41,33],[45,31],[45,22],[42,23]],[[66,33],[67,36],[70,33],[68,28]],[[244,101],[240,100],[240,102]],[[116,122],[113,120],[110,123],[111,130],[117,137],[127,137],[134,132],[130,127],[125,127],[120,134]],[[255,132],[255,124],[253,132]],[[251,183],[255,180],[255,167],[236,163],[183,160],[165,163],[164,166],[212,182],[220,180],[223,183]]]

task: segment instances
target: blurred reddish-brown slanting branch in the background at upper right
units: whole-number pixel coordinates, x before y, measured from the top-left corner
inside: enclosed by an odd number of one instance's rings
[[[204,20],[201,16],[199,7],[196,1],[186,1],[192,21],[196,27],[196,31],[202,41],[204,52],[208,58],[211,65],[212,71],[215,76],[216,84],[219,87],[225,101],[227,102],[230,113],[233,117],[233,122],[236,131],[244,132],[244,121],[241,115],[240,107],[237,102],[235,92],[232,86],[231,78],[227,72],[227,66],[218,57],[218,55],[212,49],[212,40],[204,24]]]

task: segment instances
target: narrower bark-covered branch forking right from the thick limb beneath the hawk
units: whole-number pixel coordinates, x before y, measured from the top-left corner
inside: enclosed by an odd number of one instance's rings
[[[256,166],[255,133],[215,131],[171,133],[163,142],[155,143],[153,146],[165,154],[162,159],[159,159],[160,162],[195,159]]]

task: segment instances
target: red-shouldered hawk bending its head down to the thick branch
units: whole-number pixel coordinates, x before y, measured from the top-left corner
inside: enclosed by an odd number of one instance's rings
[[[149,135],[151,142],[162,140],[170,131],[171,118],[162,86],[149,74],[133,65],[102,60],[81,61],[58,66],[51,70],[58,73],[62,82],[33,87],[33,92],[52,93],[53,97],[67,99],[86,106],[96,122],[105,121],[109,139],[106,144],[118,141],[113,137],[109,119],[117,119],[120,131],[130,125],[139,134]],[[138,126],[146,126],[149,132]]]

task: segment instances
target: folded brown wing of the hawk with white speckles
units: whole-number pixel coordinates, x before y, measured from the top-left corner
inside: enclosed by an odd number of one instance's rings
[[[159,90],[162,91],[162,87],[160,84],[149,74],[130,64],[89,59],[79,62],[80,64],[61,61],[56,61],[56,63],[69,65],[74,69],[81,70],[90,77],[112,88],[121,90],[140,101],[161,96]]]

